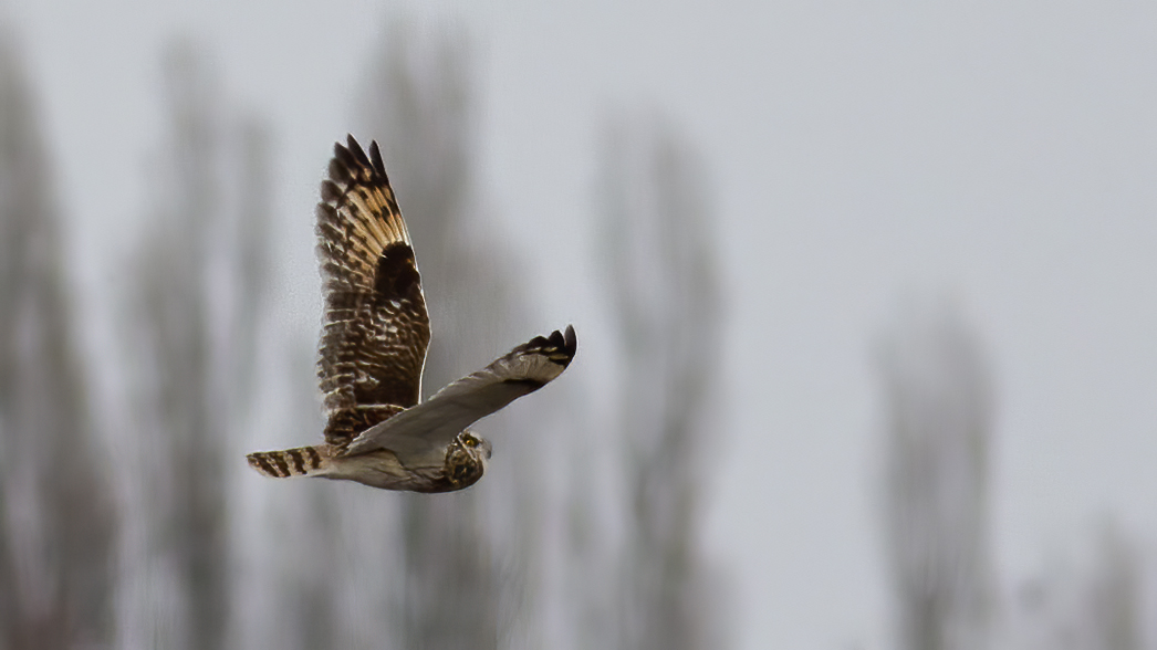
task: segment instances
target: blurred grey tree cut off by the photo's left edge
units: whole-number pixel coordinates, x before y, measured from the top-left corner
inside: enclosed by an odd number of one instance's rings
[[[0,649],[106,648],[116,510],[22,68],[0,30]]]

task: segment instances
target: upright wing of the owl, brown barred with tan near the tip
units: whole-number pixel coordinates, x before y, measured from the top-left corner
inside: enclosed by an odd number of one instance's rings
[[[317,375],[345,444],[367,426],[418,404],[430,340],[414,250],[377,142],[333,147],[317,206],[325,317]]]

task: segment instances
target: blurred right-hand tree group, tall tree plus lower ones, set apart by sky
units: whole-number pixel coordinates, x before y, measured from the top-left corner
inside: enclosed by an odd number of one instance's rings
[[[877,348],[883,523],[904,650],[1151,648],[1140,549],[1113,519],[1002,593],[990,509],[996,390],[948,298],[906,303]],[[1090,544],[1091,542],[1091,544]],[[1076,545],[1070,545],[1076,546]]]

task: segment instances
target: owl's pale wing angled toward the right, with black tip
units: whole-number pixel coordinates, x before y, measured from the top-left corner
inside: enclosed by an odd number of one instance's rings
[[[574,327],[535,337],[486,368],[445,386],[434,397],[363,431],[346,453],[385,448],[404,465],[441,465],[445,446],[474,421],[562,374],[577,349]]]

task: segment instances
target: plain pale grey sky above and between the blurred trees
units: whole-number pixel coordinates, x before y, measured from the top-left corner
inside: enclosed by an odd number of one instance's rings
[[[933,5],[0,10],[36,75],[86,287],[118,281],[102,264],[142,212],[157,54],[189,34],[273,120],[278,210],[301,215],[278,290],[307,333],[317,183],[390,12],[473,34],[488,208],[541,279],[541,325],[574,322],[590,354],[606,331],[590,283],[598,126],[617,106],[669,115],[702,148],[718,209],[732,320],[705,540],[753,650],[886,638],[871,349],[905,295],[955,295],[992,355],[1005,591],[1105,512],[1157,538],[1157,7]],[[528,224],[574,249],[538,251]]]

